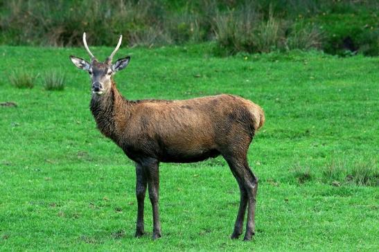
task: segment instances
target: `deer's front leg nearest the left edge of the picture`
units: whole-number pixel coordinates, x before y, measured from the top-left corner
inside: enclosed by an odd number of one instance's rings
[[[142,165],[136,163],[136,197],[138,201],[138,213],[136,221],[136,234],[134,235],[135,237],[141,237],[141,235],[145,233],[143,224],[143,208],[146,195],[146,185],[147,179],[145,170]]]

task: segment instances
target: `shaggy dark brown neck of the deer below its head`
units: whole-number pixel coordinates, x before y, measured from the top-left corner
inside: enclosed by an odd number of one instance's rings
[[[113,80],[111,90],[101,96],[93,94],[91,98],[90,109],[98,129],[114,141],[120,138],[121,132],[127,127],[129,108],[130,102],[121,96]]]

